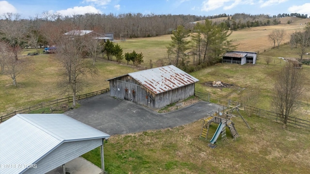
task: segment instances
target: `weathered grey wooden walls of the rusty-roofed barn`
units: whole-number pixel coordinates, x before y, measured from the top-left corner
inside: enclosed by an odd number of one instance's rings
[[[194,95],[195,84],[172,89],[155,95],[129,75],[110,80],[110,96],[128,100],[153,109],[164,107],[173,102]]]

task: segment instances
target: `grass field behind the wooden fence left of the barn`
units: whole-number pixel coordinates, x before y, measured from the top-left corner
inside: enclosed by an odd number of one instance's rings
[[[33,50],[32,50],[33,51]],[[27,52],[27,50],[26,50]],[[54,58],[55,54],[38,56],[20,56],[19,59],[31,61],[25,73],[17,77],[17,87],[12,79],[0,74],[0,113],[14,112],[29,106],[61,99],[71,94],[63,93],[58,87],[61,78],[61,65]],[[87,84],[79,94],[89,93],[109,87],[109,78],[138,71],[131,67],[99,58],[96,62],[98,73],[83,77]]]

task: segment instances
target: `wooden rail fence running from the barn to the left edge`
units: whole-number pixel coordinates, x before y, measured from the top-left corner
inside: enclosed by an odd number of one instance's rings
[[[99,94],[103,94],[103,93],[106,93],[106,92],[109,92],[109,88],[98,90],[98,91],[94,91],[94,92],[90,92],[90,93],[87,93],[87,94],[78,95],[76,98],[77,98],[77,100],[81,100],[81,99],[85,99],[85,98],[88,98],[88,97],[93,97],[93,96],[96,96],[96,95],[99,95]],[[4,116],[0,116],[0,123],[5,121],[5,120],[7,120],[7,119],[9,119],[9,118],[11,118],[12,116],[15,116],[16,114],[30,113],[33,110],[38,110],[38,109],[43,108],[43,107],[53,106],[53,105],[57,105],[58,106],[59,104],[69,103],[69,102],[73,102],[73,97],[72,96],[68,96],[68,97],[62,98],[62,99],[56,99],[56,100],[49,101],[49,102],[41,102],[41,103],[36,104],[34,106],[29,106],[28,108],[20,109],[20,110],[12,112],[10,114],[4,115]]]

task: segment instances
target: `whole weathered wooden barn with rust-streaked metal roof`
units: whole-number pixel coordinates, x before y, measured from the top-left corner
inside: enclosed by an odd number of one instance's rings
[[[108,79],[110,95],[153,109],[195,94],[199,80],[173,65],[128,73]]]

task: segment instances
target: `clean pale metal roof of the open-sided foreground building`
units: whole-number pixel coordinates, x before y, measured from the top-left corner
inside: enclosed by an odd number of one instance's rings
[[[110,136],[64,114],[17,114],[0,124],[0,174],[22,174],[65,142]],[[9,166],[11,165],[11,166]]]

